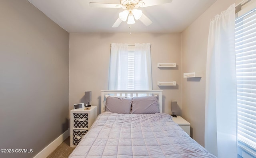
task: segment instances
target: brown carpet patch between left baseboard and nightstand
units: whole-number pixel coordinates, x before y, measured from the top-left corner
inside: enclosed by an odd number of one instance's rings
[[[68,137],[46,158],[68,158],[73,150],[74,148],[70,147],[70,137]]]

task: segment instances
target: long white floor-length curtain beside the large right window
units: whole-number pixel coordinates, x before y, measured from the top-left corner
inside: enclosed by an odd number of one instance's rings
[[[237,157],[235,4],[210,22],[206,62],[205,148]]]

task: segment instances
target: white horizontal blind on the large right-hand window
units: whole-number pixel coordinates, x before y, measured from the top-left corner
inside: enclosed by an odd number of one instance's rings
[[[235,22],[238,141],[256,150],[256,12]]]

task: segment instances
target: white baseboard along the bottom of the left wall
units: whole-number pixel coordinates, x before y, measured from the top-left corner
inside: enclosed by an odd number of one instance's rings
[[[52,141],[48,146],[46,146],[42,151],[40,151],[34,158],[46,158],[50,155],[66,138],[70,136],[70,129],[66,130],[63,134],[61,134],[58,138]]]

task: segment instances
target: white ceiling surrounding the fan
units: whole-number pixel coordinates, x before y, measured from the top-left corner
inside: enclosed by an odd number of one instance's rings
[[[68,32],[128,33],[129,25],[112,25],[122,8],[92,8],[89,2],[119,4],[119,0],[28,0]],[[182,32],[216,0],[173,0],[168,4],[140,8],[153,22],[145,26],[136,20],[132,33]]]

